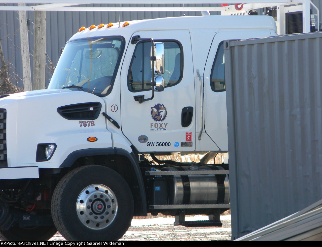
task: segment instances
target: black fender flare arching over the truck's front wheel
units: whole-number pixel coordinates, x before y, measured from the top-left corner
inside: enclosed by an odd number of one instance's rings
[[[116,155],[122,155],[128,158],[130,161],[131,165],[133,166],[136,178],[137,178],[137,183],[139,187],[139,192],[140,192],[140,204],[141,204],[141,212],[143,216],[147,216],[147,202],[146,202],[146,195],[145,195],[145,190],[144,190],[144,183],[143,183],[143,178],[142,174],[140,171],[140,167],[138,164],[137,159],[135,158],[135,153],[132,151],[129,153],[128,151],[121,149],[121,148],[94,148],[94,149],[81,149],[81,150],[76,150],[72,152],[70,155],[67,156],[67,158],[63,161],[62,165],[60,165],[60,168],[67,168],[71,167],[71,165],[78,159],[86,156],[96,156],[96,155],[110,155],[110,154],[116,154]],[[135,199],[134,199],[135,200]]]

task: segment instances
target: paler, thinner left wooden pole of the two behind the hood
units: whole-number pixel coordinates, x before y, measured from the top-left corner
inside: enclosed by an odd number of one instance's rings
[[[25,6],[25,4],[19,3],[18,6]],[[30,90],[32,90],[32,84],[31,84],[29,39],[28,39],[26,11],[19,11],[19,23],[20,23],[20,46],[21,46],[24,90],[30,91]]]

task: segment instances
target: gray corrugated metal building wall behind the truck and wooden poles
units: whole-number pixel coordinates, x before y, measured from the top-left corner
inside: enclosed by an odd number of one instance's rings
[[[82,5],[84,6],[84,5]],[[87,4],[86,6],[102,6],[102,7],[118,7],[117,4]],[[129,4],[122,4],[123,7]],[[160,4],[136,4],[131,6],[150,6],[158,7]],[[162,5],[164,6],[164,5]],[[178,6],[178,4],[166,4],[166,6]],[[194,4],[189,6],[218,6],[218,4]],[[218,12],[211,12],[211,15],[216,15]],[[154,19],[162,17],[182,16],[183,12],[121,12],[121,21],[132,21],[141,19]],[[186,16],[201,15],[200,11],[185,12]],[[27,19],[30,20],[29,29],[29,48],[30,54],[33,54],[33,12],[27,12]],[[56,12],[47,11],[47,54],[54,65],[57,64],[60,55],[60,48],[65,45],[69,38],[80,27],[89,27],[92,24],[99,25],[100,23],[118,22],[119,12]],[[0,11],[0,39],[2,38],[2,48],[5,53],[5,59],[12,64],[12,71],[18,76],[16,80],[12,77],[12,82],[23,87],[22,80],[22,60],[20,52],[20,33],[19,33],[19,15],[14,11]],[[16,35],[14,35],[16,34]],[[33,67],[33,57],[30,56],[30,63]],[[48,61],[47,61],[48,62]],[[33,71],[31,71],[32,73]],[[48,86],[51,78],[49,70],[46,71],[46,86]]]

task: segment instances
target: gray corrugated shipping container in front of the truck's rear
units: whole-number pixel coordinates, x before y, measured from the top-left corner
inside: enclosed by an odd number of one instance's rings
[[[322,198],[322,32],[224,45],[235,239]]]

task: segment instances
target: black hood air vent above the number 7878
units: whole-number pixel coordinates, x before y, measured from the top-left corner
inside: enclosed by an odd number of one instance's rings
[[[93,120],[98,118],[101,107],[99,102],[89,102],[61,106],[57,108],[57,112],[68,120]]]

